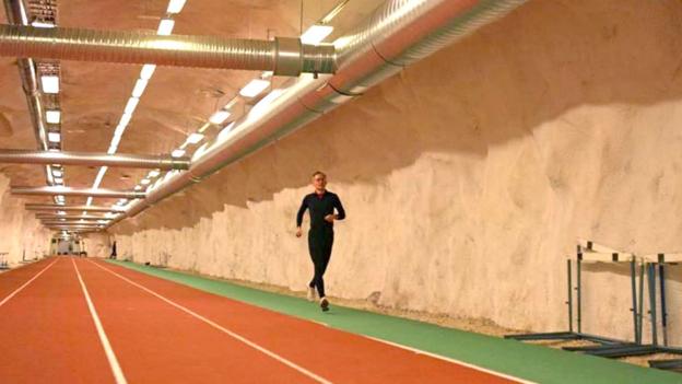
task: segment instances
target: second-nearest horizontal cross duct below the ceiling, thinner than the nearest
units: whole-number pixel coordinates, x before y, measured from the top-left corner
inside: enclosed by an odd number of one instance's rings
[[[0,149],[0,163],[124,166],[131,168],[187,170],[189,158],[84,152],[40,152]]]

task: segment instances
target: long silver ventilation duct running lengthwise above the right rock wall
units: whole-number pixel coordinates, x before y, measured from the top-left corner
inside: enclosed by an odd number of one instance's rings
[[[477,28],[526,0],[388,0],[358,28],[339,38],[334,75],[291,80],[266,112],[236,121],[195,153],[188,172],[168,177],[146,199],[133,202],[110,225],[201,181],[274,140],[315,120],[369,86]]]

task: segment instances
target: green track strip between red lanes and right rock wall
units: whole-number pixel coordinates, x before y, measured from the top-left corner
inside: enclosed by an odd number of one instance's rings
[[[682,384],[682,374],[542,346],[444,328],[343,306],[322,313],[308,301],[223,280],[108,260],[129,269],[353,334],[421,349],[537,383]]]

